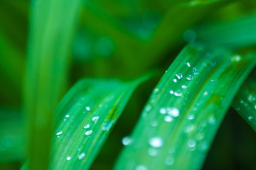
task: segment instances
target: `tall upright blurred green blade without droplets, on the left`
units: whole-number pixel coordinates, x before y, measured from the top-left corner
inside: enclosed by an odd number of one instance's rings
[[[70,38],[80,2],[31,1],[24,88],[30,139],[28,169],[48,169],[53,111],[65,89]]]

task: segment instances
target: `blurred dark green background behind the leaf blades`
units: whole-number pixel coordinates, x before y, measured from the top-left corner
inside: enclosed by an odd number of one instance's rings
[[[19,169],[26,159],[22,89],[30,10],[35,1],[0,0],[3,170]],[[255,7],[254,0],[84,1],[70,42],[68,82],[63,94],[82,77],[130,79],[152,69],[159,71],[135,91],[91,169],[112,169],[122,149],[122,137],[132,131],[152,89],[186,43],[204,40],[209,26],[215,30],[218,23],[225,25],[248,15],[255,19]],[[215,31],[225,34],[227,28],[229,25]],[[256,169],[255,143],[255,132],[230,108],[203,169]]]

